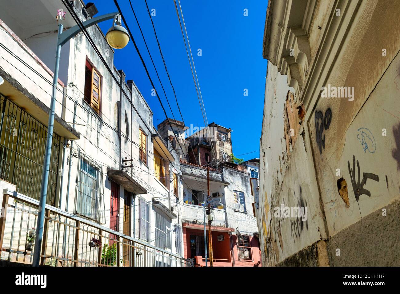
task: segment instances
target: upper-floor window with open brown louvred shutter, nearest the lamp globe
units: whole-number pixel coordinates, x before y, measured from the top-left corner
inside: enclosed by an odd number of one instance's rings
[[[102,77],[86,59],[84,100],[100,115]]]

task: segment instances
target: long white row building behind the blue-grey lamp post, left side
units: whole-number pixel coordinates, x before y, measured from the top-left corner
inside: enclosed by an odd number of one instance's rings
[[[66,12],[58,18],[64,28],[93,13],[81,0],[65,3],[15,0],[0,10],[0,188],[9,189],[0,249],[11,262],[32,262],[25,236],[37,222],[57,10]],[[81,32],[61,50],[41,263],[186,266],[179,154],[159,136],[134,82],[114,67],[118,52],[100,28],[86,31],[90,38]]]

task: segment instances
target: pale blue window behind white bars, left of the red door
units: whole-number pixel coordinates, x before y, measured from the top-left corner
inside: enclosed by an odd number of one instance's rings
[[[101,166],[78,154],[75,214],[105,224],[104,190]]]

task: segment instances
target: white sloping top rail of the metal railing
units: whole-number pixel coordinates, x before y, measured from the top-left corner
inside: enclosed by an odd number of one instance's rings
[[[24,194],[20,194],[20,193],[18,193],[18,192],[16,192],[16,191],[12,191],[12,190],[10,190],[10,189],[4,189],[4,190],[3,190],[3,195],[8,195],[8,196],[10,196],[10,197],[12,197],[12,198],[15,198],[15,199],[18,199],[18,200],[22,200],[22,201],[24,201],[24,202],[26,202],[26,203],[28,203],[28,204],[32,204],[32,205],[35,205],[35,206],[39,206],[39,201],[38,201],[38,200],[33,199],[33,198],[30,198],[30,197],[28,197],[28,196],[26,196],[26,195],[24,195]],[[87,224],[87,225],[89,225],[89,226],[98,228],[98,229],[100,229],[100,230],[103,230],[103,232],[108,232],[108,233],[110,233],[110,234],[113,234],[113,235],[116,235],[116,236],[119,236],[119,237],[128,239],[128,240],[130,240],[130,241],[139,243],[139,244],[141,244],[141,245],[144,245],[144,246],[146,246],[147,248],[152,248],[152,249],[155,249],[155,250],[157,250],[157,251],[161,251],[161,252],[164,252],[164,253],[169,254],[169,255],[171,255],[171,256],[175,256],[175,257],[177,257],[177,258],[180,258],[180,259],[182,259],[182,260],[186,260],[186,261],[190,262],[188,259],[186,259],[186,258],[184,258],[184,257],[182,257],[182,256],[179,256],[179,255],[174,254],[174,253],[172,253],[172,252],[168,252],[168,251],[166,251],[166,250],[164,250],[164,249],[158,248],[158,247],[153,246],[153,245],[151,245],[151,244],[146,244],[146,243],[142,242],[142,241],[139,240],[139,239],[132,238],[132,237],[130,237],[130,236],[127,236],[127,235],[122,234],[122,233],[120,233],[120,232],[114,231],[114,230],[112,230],[112,229],[110,229],[110,228],[107,228],[107,227],[105,227],[105,226],[101,226],[101,225],[99,225],[99,224],[96,224],[95,222],[91,222],[90,220],[86,220],[86,219],[84,219],[84,218],[80,218],[79,216],[76,216],[76,215],[74,215],[74,214],[70,214],[70,213],[68,213],[68,212],[66,212],[66,211],[63,211],[63,210],[61,210],[61,209],[59,209],[59,208],[56,208],[56,207],[54,207],[54,206],[51,206],[51,205],[49,205],[49,204],[46,204],[45,209],[48,209],[48,210],[50,210],[51,212],[55,212],[55,213],[57,213],[57,214],[59,214],[59,215],[61,215],[61,216],[64,216],[64,217],[67,217],[67,218],[71,218],[71,219],[73,219],[73,220],[77,220],[77,221],[80,222],[80,223],[84,223],[84,224]]]

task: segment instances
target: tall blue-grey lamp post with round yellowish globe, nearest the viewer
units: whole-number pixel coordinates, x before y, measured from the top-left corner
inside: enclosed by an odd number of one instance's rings
[[[62,15],[62,17],[63,16],[64,15]],[[60,19],[62,19],[62,17]],[[130,38],[128,32],[121,26],[121,16],[118,14],[118,12],[113,12],[109,14],[104,14],[102,16],[97,16],[95,18],[91,18],[90,20],[82,22],[83,27],[80,24],[78,24],[76,26],[73,26],[72,28],[69,28],[65,32],[62,31],[63,25],[61,24],[61,22],[59,22],[58,24],[56,64],[54,66],[53,90],[50,103],[46,148],[45,148],[44,162],[43,162],[43,177],[42,177],[40,199],[39,199],[38,222],[36,224],[36,242],[33,254],[33,262],[32,262],[33,266],[39,266],[40,251],[42,249],[44,211],[46,208],[47,186],[48,186],[48,178],[50,172],[50,156],[51,156],[51,146],[53,140],[54,110],[56,107],[56,91],[58,82],[58,68],[60,65],[61,46],[64,45],[66,42],[68,42],[71,38],[76,36],[76,34],[78,34],[84,28],[88,28],[90,26],[93,26],[94,24],[98,24],[99,22],[102,22],[104,20],[109,20],[111,18],[114,18],[114,21],[112,27],[110,28],[110,30],[108,30],[106,34],[106,40],[112,48],[115,49],[124,48],[128,44]]]

